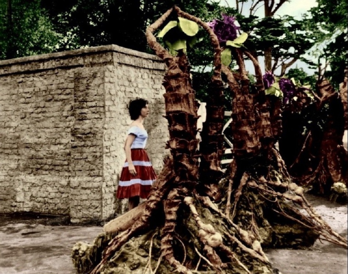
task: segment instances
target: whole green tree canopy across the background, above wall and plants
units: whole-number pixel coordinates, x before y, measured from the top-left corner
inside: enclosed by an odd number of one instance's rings
[[[296,60],[317,67],[317,58],[324,58],[331,66],[325,76],[332,77],[337,86],[347,66],[347,2],[317,0],[318,6],[301,19],[277,15],[285,2],[236,0],[235,7],[229,7],[223,1],[208,0],[1,0],[0,58],[108,44],[151,52],[145,29],[168,8],[177,5],[204,22],[221,18],[222,14],[236,16],[243,31],[249,34],[245,47],[254,56],[265,57],[265,70],[275,72],[279,68],[280,76]],[[264,10],[262,17],[255,16],[259,9]],[[212,65],[208,40],[200,30],[196,47],[188,53],[195,77],[206,73],[207,66]],[[305,58],[309,49],[311,55]],[[231,67],[234,65],[232,62]]]

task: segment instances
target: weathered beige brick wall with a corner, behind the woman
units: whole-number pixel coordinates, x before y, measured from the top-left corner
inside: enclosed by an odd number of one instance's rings
[[[0,61],[0,212],[107,219],[125,161],[127,103],[149,101],[147,150],[167,153],[165,65],[115,45]]]

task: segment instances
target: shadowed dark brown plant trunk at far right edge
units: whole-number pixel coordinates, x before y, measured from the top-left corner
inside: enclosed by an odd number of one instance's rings
[[[330,195],[333,183],[347,185],[348,181],[347,150],[342,143],[345,115],[341,97],[329,81],[317,83],[317,94],[312,105],[308,105],[308,97],[301,98],[305,103],[300,110],[312,112],[314,117],[306,135],[301,134],[303,114],[293,108],[284,111],[285,130],[279,148],[289,172],[300,185]]]

